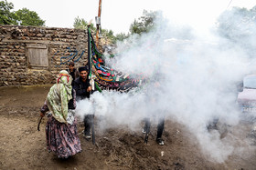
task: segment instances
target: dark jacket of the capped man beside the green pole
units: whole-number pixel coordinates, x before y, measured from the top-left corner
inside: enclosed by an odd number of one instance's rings
[[[87,88],[90,86],[90,80],[89,78],[86,79],[86,82],[83,82],[81,80],[81,77],[77,78],[74,81],[74,89],[76,90],[77,100],[82,100],[85,98],[90,98],[90,95],[94,92],[87,92]],[[94,87],[94,89],[96,89]]]

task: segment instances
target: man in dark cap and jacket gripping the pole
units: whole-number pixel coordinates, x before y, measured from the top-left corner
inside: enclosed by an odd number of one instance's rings
[[[77,78],[74,82],[74,89],[76,91],[78,101],[85,98],[90,98],[90,95],[93,93],[92,87],[90,85],[90,80],[88,77],[89,76],[88,66],[81,66],[79,68],[79,72],[80,72],[80,77]],[[93,115],[85,115],[83,121],[84,121],[83,135],[86,139],[91,139],[90,131],[91,131],[91,124],[93,121]]]

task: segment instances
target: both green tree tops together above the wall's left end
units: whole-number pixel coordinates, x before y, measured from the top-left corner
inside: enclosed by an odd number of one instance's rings
[[[21,21],[21,25],[42,26],[45,24],[36,12],[29,11],[27,8],[12,12],[13,3],[8,3],[6,0],[0,1],[0,9],[0,25],[17,25],[17,21]]]

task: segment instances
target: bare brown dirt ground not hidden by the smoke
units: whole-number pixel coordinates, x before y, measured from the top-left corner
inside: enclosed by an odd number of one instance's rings
[[[197,140],[187,140],[184,125],[165,122],[165,145],[155,143],[155,130],[144,145],[141,129],[125,127],[101,132],[96,121],[96,145],[81,135],[83,151],[66,160],[46,148],[46,117],[37,131],[39,108],[49,85],[0,87],[0,169],[256,169],[256,154],[242,158],[231,155],[222,164],[200,153]],[[152,127],[151,129],[156,129]]]

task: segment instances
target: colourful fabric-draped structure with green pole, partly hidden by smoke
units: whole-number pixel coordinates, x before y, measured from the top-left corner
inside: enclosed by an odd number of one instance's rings
[[[91,81],[94,81],[100,92],[105,89],[126,92],[143,85],[146,81],[143,75],[129,75],[107,67],[105,56],[100,53],[93,40],[90,26],[88,26],[88,66]]]

